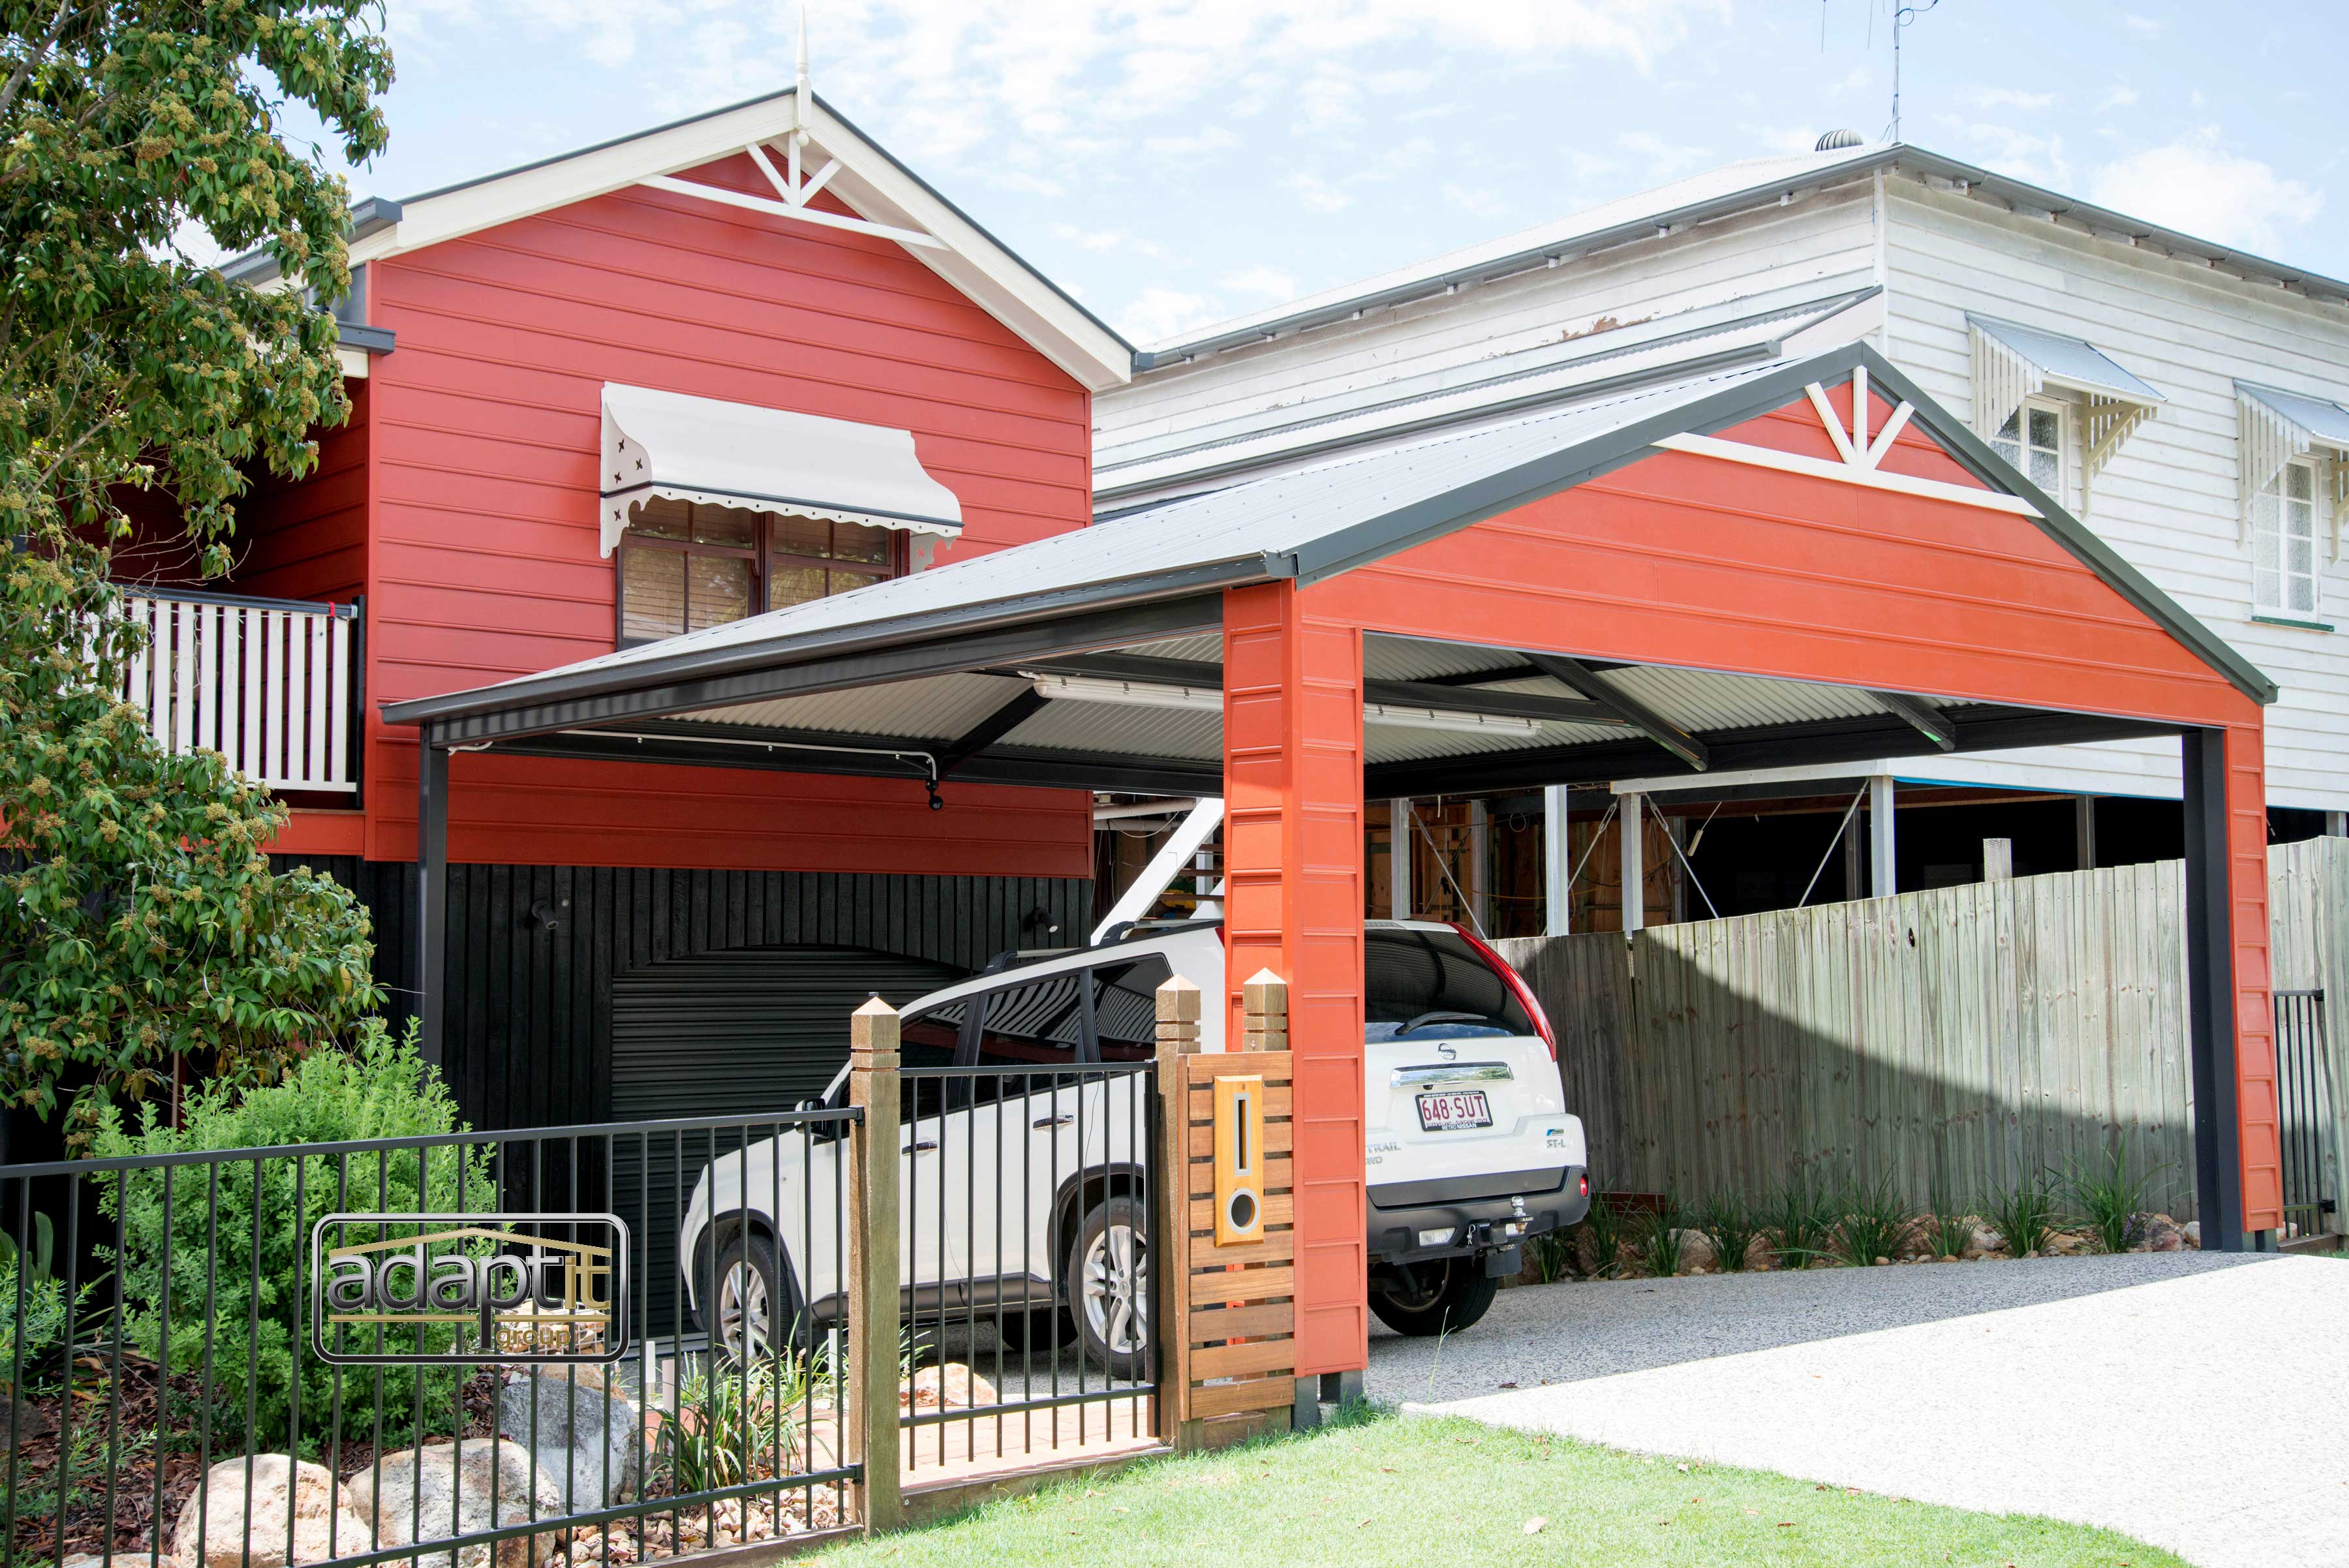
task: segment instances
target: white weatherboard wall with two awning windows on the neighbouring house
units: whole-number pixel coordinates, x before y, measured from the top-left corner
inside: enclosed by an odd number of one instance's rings
[[[1966,315],[2084,338],[2168,399],[2095,477],[2084,521],[2283,690],[2267,709],[2274,805],[2349,805],[2349,643],[2250,617],[2241,538],[2236,380],[2349,397],[2349,312],[2271,284],[2001,214],[1891,181],[1889,352],[1926,394],[1973,406]],[[2074,427],[2077,434],[2077,427]],[[2079,441],[2065,493],[2081,505]],[[2328,615],[2349,624],[2349,570],[2323,563]],[[2011,789],[2175,798],[2175,742],[2112,742],[1905,761],[1903,775]]]

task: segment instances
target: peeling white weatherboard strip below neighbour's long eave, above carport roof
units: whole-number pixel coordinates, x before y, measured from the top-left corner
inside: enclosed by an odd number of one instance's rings
[[[1764,310],[1872,282],[1870,197],[1856,183],[1137,376],[1095,397],[1095,455],[1111,462],[1137,441],[1553,345],[1607,319],[1630,324],[1729,300]]]

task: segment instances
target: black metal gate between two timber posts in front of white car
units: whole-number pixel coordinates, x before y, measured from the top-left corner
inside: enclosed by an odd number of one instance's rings
[[[1149,1268],[1153,1063],[909,1066],[900,1082],[907,1474],[1149,1441],[1167,1319]],[[935,1373],[914,1371],[928,1354]]]

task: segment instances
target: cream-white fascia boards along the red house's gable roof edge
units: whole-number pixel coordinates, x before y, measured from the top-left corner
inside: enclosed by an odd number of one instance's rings
[[[792,94],[782,92],[573,157],[423,195],[402,204],[399,223],[355,242],[350,265],[420,251],[648,178],[698,169],[752,143],[780,141],[789,129]],[[824,190],[860,218],[916,228],[942,239],[944,249],[907,246],[907,254],[921,258],[1052,364],[1090,392],[1132,380],[1132,350],[1123,340],[1055,293],[1027,263],[897,169],[820,101],[810,106],[808,136],[841,162],[841,171]]]

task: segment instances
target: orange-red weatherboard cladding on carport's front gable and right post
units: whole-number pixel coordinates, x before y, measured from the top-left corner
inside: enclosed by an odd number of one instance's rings
[[[1724,437],[1832,455],[1809,401]],[[1973,484],[1921,434],[1884,467]],[[2260,707],[2030,519],[1656,453],[1308,599],[1367,631],[2225,728],[2243,1207],[2281,1223]]]

